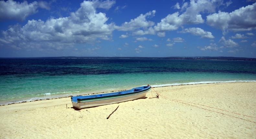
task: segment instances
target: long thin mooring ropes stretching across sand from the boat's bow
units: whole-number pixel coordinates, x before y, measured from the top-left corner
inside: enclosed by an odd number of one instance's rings
[[[175,99],[171,99],[171,98],[165,97],[165,96],[159,94],[153,87],[151,87],[151,88],[157,93],[157,95],[163,97],[166,100],[175,101],[175,102],[180,102],[181,101],[181,100],[175,100]],[[201,108],[201,107],[198,107],[198,106],[195,106],[195,105],[191,105],[191,104],[188,104],[188,103],[184,103],[184,102],[186,102],[186,101],[182,101],[180,103],[187,104],[187,105],[190,105],[190,106],[194,106],[194,107],[197,107],[197,108],[200,108],[200,109],[204,109],[204,110],[207,110],[207,111],[211,111],[211,112],[216,112],[216,111],[208,110],[208,109]],[[193,103],[193,102],[189,102],[189,103]],[[197,103],[194,103],[194,104],[197,104]],[[198,104],[198,105],[201,105],[201,104]],[[202,106],[206,106],[206,105],[202,105]],[[210,107],[210,106],[206,106],[206,107],[214,108],[214,107]],[[218,109],[218,108],[214,108],[214,109]],[[222,109],[218,109],[218,110],[222,110]],[[222,110],[222,111],[226,111],[226,110]],[[229,111],[227,111],[227,112],[229,112]],[[221,112],[217,112],[217,113],[220,113],[220,114],[223,114],[223,115],[228,115],[228,114],[221,113]],[[232,113],[235,113],[235,112],[232,112]],[[235,114],[239,114],[239,113],[235,113]],[[244,115],[244,114],[239,114],[239,115]],[[241,120],[245,120],[245,121],[249,121],[249,122],[252,122],[252,123],[256,123],[256,122],[253,122],[253,121],[250,121],[250,120],[247,120],[247,119],[243,119],[243,118],[239,118],[239,117],[236,117],[236,116],[233,116],[233,115],[228,115],[228,116],[231,116],[231,117],[234,117],[234,118],[238,118],[238,119],[241,119]],[[248,116],[248,115],[244,115],[244,116]],[[252,117],[252,116],[248,116],[248,117]],[[252,118],[255,118],[255,117],[252,117]]]

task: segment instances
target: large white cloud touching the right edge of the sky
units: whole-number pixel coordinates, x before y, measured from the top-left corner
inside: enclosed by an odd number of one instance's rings
[[[231,13],[221,12],[206,16],[207,24],[220,28],[223,33],[227,30],[246,31],[256,27],[256,3],[241,7]]]

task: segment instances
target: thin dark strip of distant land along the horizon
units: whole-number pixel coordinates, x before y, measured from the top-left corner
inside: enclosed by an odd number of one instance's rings
[[[33,58],[1,58],[1,59],[199,59],[199,60],[256,61],[256,58],[239,58],[239,57],[33,57]]]

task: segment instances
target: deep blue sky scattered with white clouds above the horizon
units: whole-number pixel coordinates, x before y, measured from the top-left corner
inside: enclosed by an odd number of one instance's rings
[[[255,0],[0,1],[0,57],[256,58]]]

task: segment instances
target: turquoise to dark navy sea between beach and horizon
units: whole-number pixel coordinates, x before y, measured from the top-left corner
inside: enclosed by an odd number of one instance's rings
[[[256,61],[2,58],[0,104],[119,91],[147,84],[160,87],[248,81],[256,81]]]

